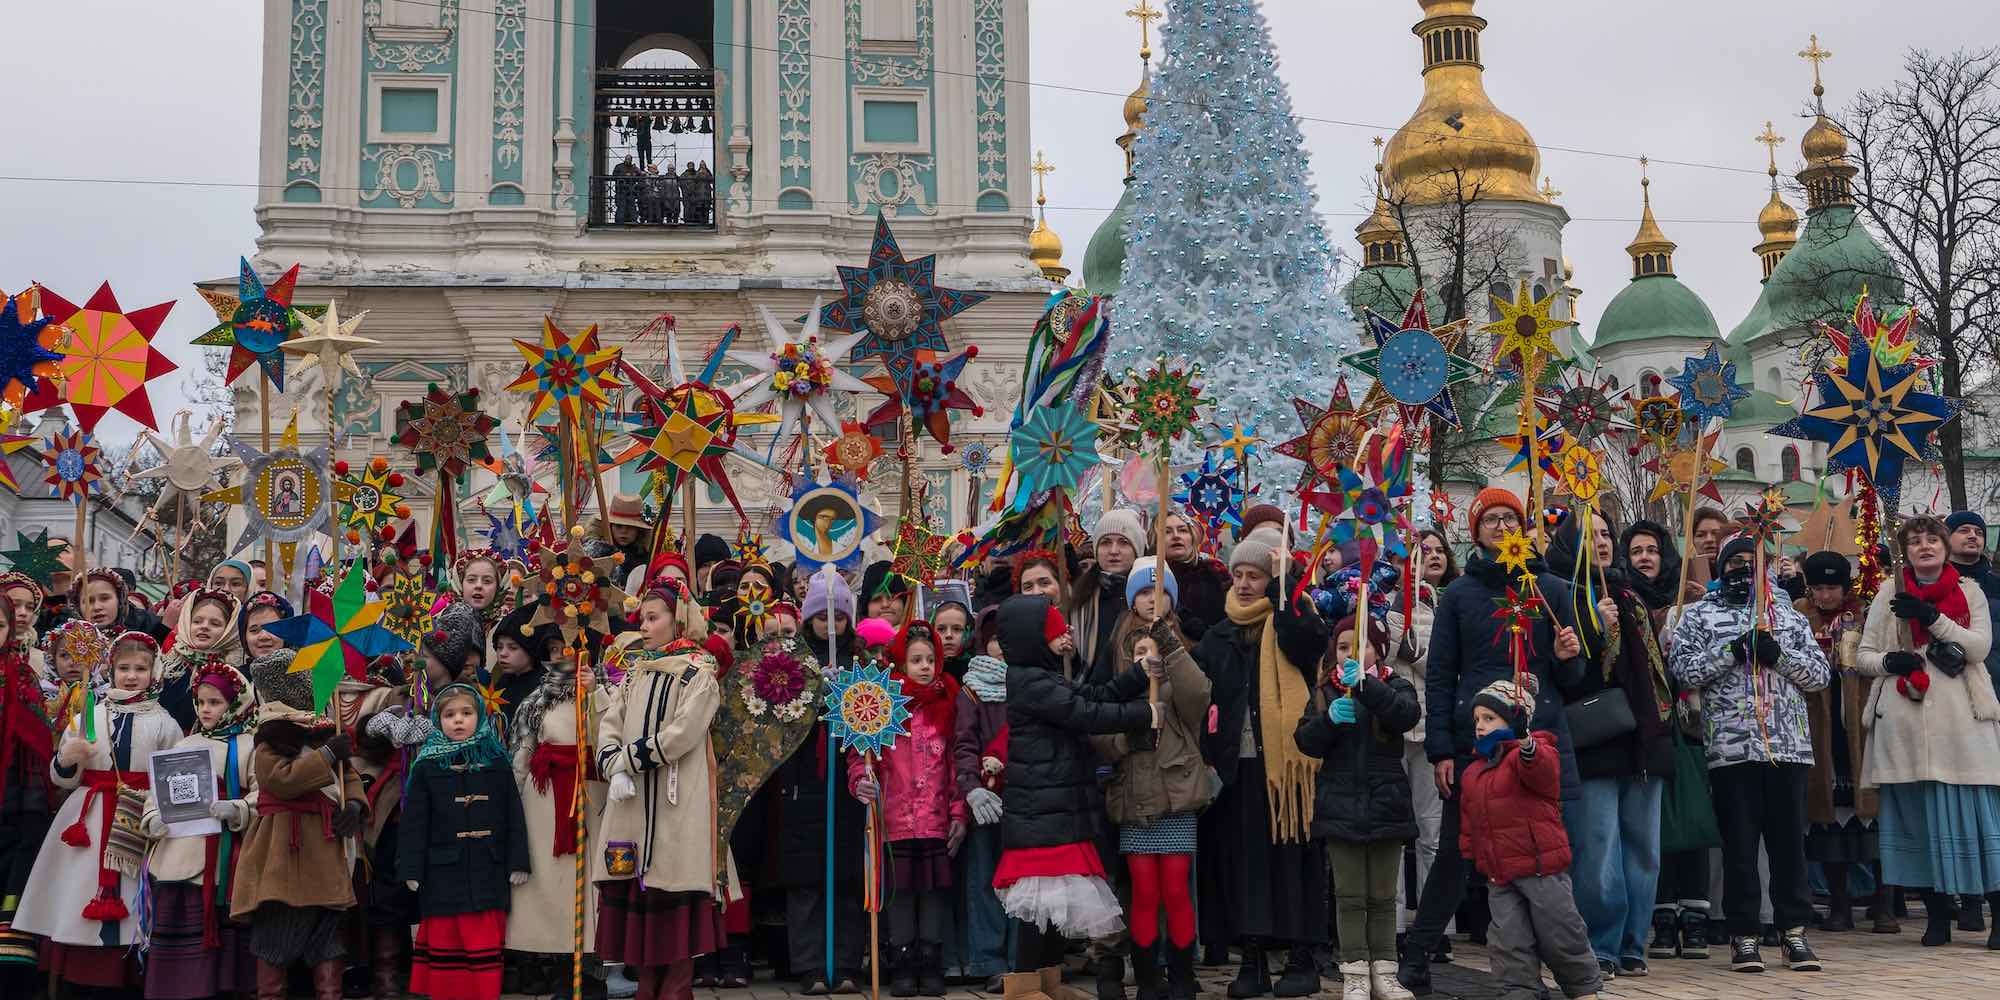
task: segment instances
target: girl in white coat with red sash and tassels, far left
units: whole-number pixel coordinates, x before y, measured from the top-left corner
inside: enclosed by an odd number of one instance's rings
[[[64,622],[50,648],[62,644],[72,660],[92,666],[90,676],[104,676],[106,644],[102,636],[92,642],[94,634],[88,622]],[[152,754],[180,742],[180,724],[160,708],[152,672],[160,646],[152,636],[126,632],[110,648],[112,684],[90,708],[90,722],[76,716],[56,734],[48,776],[72,792],[42,840],[14,930],[48,938],[44,968],[58,978],[128,988],[138,984],[130,944],[138,938],[138,872],[146,850],[138,818],[152,784]],[[128,826],[114,824],[120,812],[128,814]]]

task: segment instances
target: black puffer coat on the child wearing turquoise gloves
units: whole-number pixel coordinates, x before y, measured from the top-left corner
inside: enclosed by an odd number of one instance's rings
[[[1312,790],[1312,836],[1348,842],[1414,840],[1416,808],[1410,776],[1402,770],[1404,732],[1424,716],[1416,686],[1390,674],[1388,682],[1362,678],[1354,692],[1354,722],[1336,726],[1320,702],[1298,720],[1300,752],[1320,758]],[[1418,776],[1416,780],[1428,780]]]

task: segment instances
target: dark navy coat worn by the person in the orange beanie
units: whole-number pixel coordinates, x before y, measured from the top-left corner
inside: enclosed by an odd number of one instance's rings
[[[1528,668],[1538,682],[1528,728],[1556,734],[1562,748],[1562,798],[1576,798],[1582,792],[1560,692],[1584,678],[1586,664],[1582,656],[1574,660],[1554,656],[1556,628],[1576,624],[1570,614],[1570,584],[1546,572],[1540,558],[1528,560],[1528,570],[1536,574],[1534,586],[1546,604],[1542,618],[1534,622],[1534,642],[1528,652]],[[1504,600],[1510,586],[1518,588],[1520,580],[1486,550],[1478,550],[1466,562],[1464,576],[1438,594],[1424,672],[1424,756],[1432,764],[1458,760],[1458,770],[1466,770],[1472,760],[1472,696],[1496,680],[1514,678],[1512,652],[1496,638],[1500,622],[1494,620],[1498,608],[1494,602]]]

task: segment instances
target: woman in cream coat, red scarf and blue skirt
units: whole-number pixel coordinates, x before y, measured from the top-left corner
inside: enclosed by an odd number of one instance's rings
[[[1904,566],[1868,606],[1858,664],[1876,678],[1862,714],[1862,788],[1882,790],[1882,882],[1924,890],[1926,946],[1952,940],[1950,896],[2000,904],[1992,620],[1978,582],[1948,562],[1948,536],[1928,516],[1896,530]],[[2000,950],[2000,924],[1986,946]]]

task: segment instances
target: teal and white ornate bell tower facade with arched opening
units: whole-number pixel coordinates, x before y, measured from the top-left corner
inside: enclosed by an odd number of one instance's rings
[[[526,398],[502,388],[542,314],[612,344],[672,314],[690,352],[730,324],[764,346],[758,306],[792,320],[832,296],[878,212],[940,284],[992,294],[946,332],[980,346],[966,388],[988,412],[958,434],[1004,430],[1050,290],[1028,260],[1028,0],[264,6],[256,264],[302,262],[298,300],[370,310],[382,342],[334,400],[344,456],[408,458],[394,410],[434,380],[518,432]],[[630,350],[664,358],[656,336]],[[324,386],[294,382],[324,434]],[[924,468],[936,502],[968,502],[956,456]],[[738,488],[760,496],[754,474]]]

